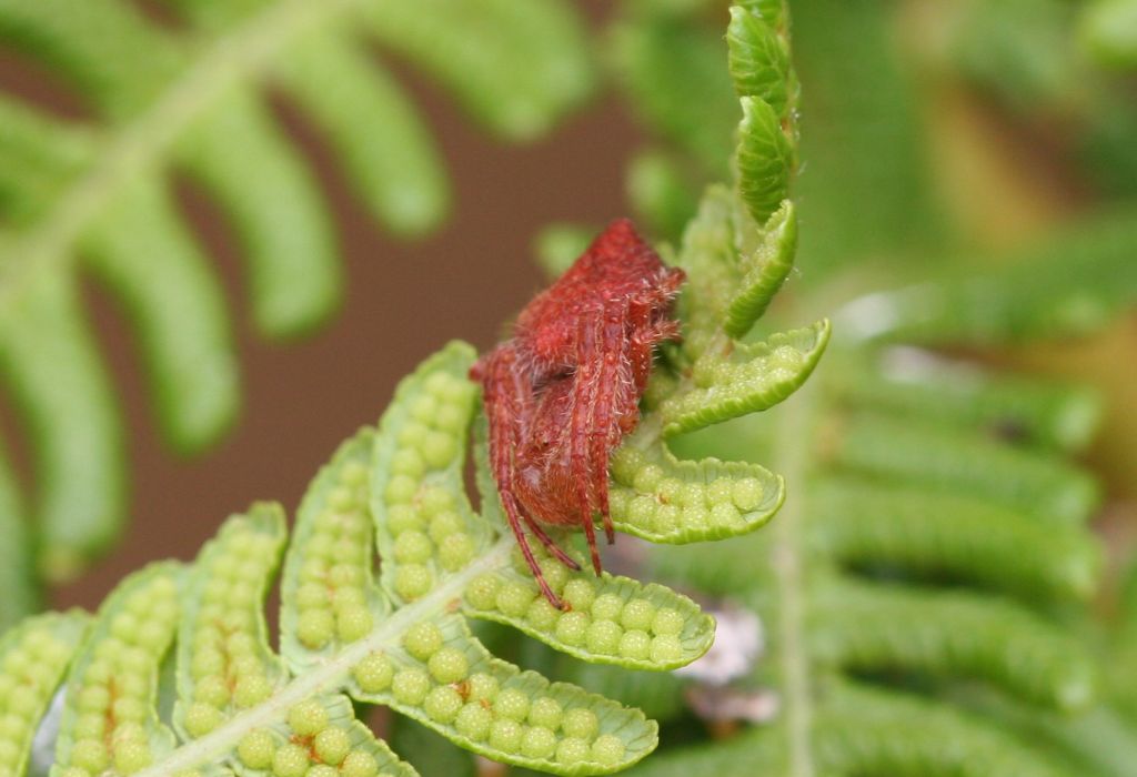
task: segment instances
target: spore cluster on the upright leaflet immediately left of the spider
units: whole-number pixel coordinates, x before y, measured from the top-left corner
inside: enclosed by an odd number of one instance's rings
[[[382,485],[384,526],[391,545],[384,561],[390,584],[404,601],[434,587],[446,573],[474,557],[459,470],[466,425],[473,412],[474,386],[446,371],[434,371],[408,396],[396,432],[396,446]]]

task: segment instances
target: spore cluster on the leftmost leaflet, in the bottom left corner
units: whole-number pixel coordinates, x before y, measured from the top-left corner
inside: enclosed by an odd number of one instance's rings
[[[14,635],[0,654],[2,777],[22,774],[40,718],[70,661],[73,646],[57,633],[59,618],[49,615],[32,621]]]

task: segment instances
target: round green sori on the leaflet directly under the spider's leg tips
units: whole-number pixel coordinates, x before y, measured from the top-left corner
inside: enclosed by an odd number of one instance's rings
[[[541,571],[554,593],[565,603],[558,610],[541,596],[514,560],[518,574],[487,573],[466,588],[466,603],[480,612],[500,613],[522,628],[548,634],[556,642],[653,665],[675,663],[683,657],[680,633],[682,613],[671,607],[657,608],[644,598],[628,599],[604,591],[604,579],[590,574],[571,574],[556,559],[540,560]]]

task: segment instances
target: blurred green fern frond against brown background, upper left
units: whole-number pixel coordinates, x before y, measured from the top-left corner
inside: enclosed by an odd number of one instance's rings
[[[41,574],[66,578],[122,530],[123,434],[82,275],[130,317],[173,448],[201,450],[238,412],[230,316],[180,212],[176,176],[198,182],[231,219],[262,334],[302,334],[337,308],[332,219],[269,90],[321,131],[372,215],[414,236],[445,217],[449,185],[373,41],[509,139],[541,133],[591,87],[582,25],[559,0],[159,5],[176,26],[124,0],[0,2],[0,43],[58,73],[85,111],[65,120],[0,95],[0,368],[38,475],[34,499],[23,500],[0,460],[0,526],[18,537],[0,566],[24,568],[6,586],[0,624],[34,607],[22,557],[39,551]],[[25,501],[34,520],[23,519]]]

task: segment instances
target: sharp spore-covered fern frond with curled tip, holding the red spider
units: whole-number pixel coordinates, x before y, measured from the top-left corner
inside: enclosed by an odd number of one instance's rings
[[[749,24],[770,33],[757,17]],[[747,534],[785,500],[783,479],[758,465],[683,460],[664,444],[786,399],[828,341],[825,321],[738,341],[780,287],[796,235],[781,164],[791,142],[778,115],[760,97],[748,106],[739,179],[748,206],[719,194],[722,226],[748,247],[746,259],[715,253],[684,266],[684,344],[664,354],[642,420],[616,454],[612,517],[628,534],[677,545]],[[475,356],[451,343],[400,384],[377,428],[345,442],[316,476],[291,542],[283,510],[255,504],[193,563],[126,578],[97,616],[50,613],[9,632],[0,766],[22,774],[40,755],[33,734],[65,674],[61,711],[45,724],[53,753],[31,766],[50,763],[59,777],[415,774],[355,719],[349,699],[557,774],[615,771],[655,749],[656,724],[640,710],[523,671],[471,630],[471,619],[487,619],[588,662],[659,671],[699,658],[714,628],[670,588],[551,558],[542,573],[567,607],[539,595],[489,475],[467,378]],[[463,485],[471,428],[480,510]],[[276,653],[263,603],[282,553]]]

